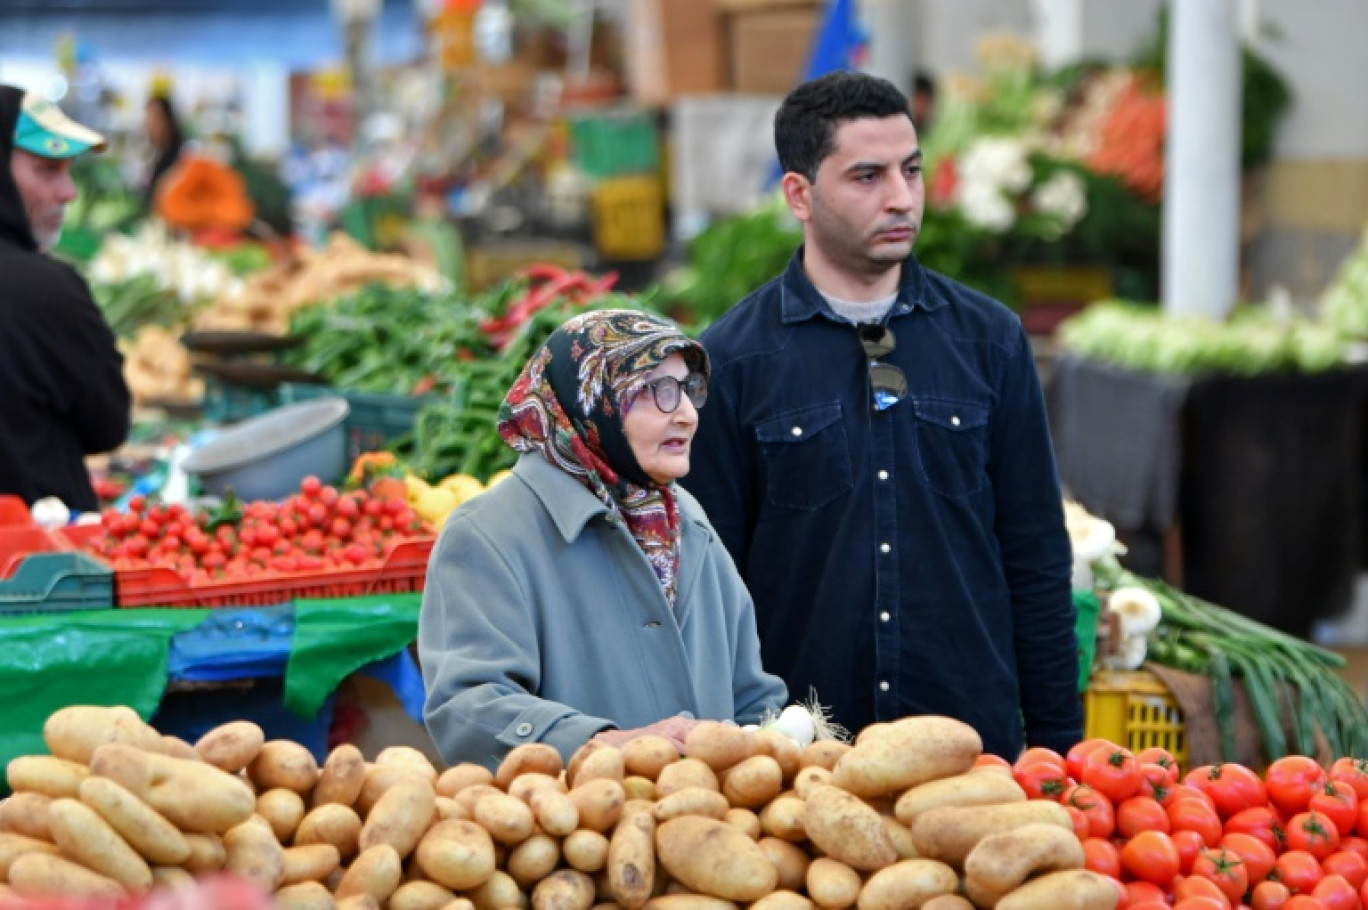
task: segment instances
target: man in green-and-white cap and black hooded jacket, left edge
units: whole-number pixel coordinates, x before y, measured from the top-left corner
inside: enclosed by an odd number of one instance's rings
[[[98,508],[85,456],[129,435],[114,333],[75,270],[47,253],[77,196],[71,159],[104,138],[0,85],[0,493]]]

